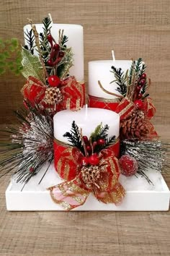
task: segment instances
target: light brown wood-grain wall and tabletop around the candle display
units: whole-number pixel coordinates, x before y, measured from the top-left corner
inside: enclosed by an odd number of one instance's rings
[[[17,37],[27,17],[41,22],[84,26],[85,80],[87,63],[97,59],[142,57],[152,80],[157,108],[154,123],[170,142],[170,2],[169,0],[1,0],[0,38]],[[75,38],[76,40],[76,38]],[[14,122],[22,106],[22,77],[0,77],[0,124]],[[169,175],[165,176],[170,186]],[[0,255],[170,255],[167,213],[9,213],[0,179]]]

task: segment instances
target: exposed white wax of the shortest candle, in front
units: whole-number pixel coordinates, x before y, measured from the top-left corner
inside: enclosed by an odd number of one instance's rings
[[[63,110],[55,114],[53,117],[54,121],[54,137],[62,142],[69,143],[66,137],[63,135],[66,132],[71,131],[71,124],[73,121],[76,122],[79,128],[82,128],[83,135],[89,137],[91,132],[97,125],[101,124],[104,127],[108,124],[109,130],[108,135],[119,136],[120,129],[120,116],[110,110],[102,108],[81,108],[80,111]]]

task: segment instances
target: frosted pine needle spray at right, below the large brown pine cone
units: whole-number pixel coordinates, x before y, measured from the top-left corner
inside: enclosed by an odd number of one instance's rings
[[[138,174],[148,182],[148,169],[166,171],[170,166],[170,143],[161,140],[122,140],[121,155],[131,155],[138,161]]]

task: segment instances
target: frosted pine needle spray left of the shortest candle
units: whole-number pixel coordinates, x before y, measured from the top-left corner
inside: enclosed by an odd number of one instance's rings
[[[0,178],[9,172],[26,184],[45,163],[53,161],[53,118],[47,111],[29,106],[29,112],[16,111],[19,124],[7,127],[1,140]],[[2,134],[1,134],[2,135]],[[40,182],[45,176],[42,175]]]

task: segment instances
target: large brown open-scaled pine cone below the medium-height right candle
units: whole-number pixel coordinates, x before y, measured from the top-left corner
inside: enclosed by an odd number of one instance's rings
[[[130,138],[146,137],[151,131],[151,123],[143,114],[143,111],[133,112],[130,118],[120,123],[120,136],[122,140]]]

